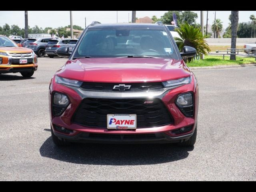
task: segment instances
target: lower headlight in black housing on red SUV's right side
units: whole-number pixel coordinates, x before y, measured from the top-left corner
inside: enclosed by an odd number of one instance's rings
[[[192,92],[179,95],[175,103],[185,116],[192,117],[194,115],[194,99]]]

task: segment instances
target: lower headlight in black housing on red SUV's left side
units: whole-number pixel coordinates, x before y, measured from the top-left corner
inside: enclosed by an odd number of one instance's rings
[[[53,93],[52,99],[52,114],[54,116],[60,116],[69,105],[68,96],[62,93]]]

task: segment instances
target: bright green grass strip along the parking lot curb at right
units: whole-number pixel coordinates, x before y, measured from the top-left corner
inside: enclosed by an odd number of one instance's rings
[[[205,67],[205,66],[216,66],[216,65],[242,65],[256,63],[254,57],[238,57],[236,56],[235,61],[229,60],[230,56],[205,56],[204,60],[194,60],[193,62],[187,63],[188,67]]]

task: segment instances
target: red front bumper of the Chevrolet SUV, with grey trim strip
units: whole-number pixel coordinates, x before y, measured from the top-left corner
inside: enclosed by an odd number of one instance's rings
[[[53,91],[64,93],[70,99],[69,106],[61,116],[52,115],[51,102]],[[177,96],[185,92],[194,93],[193,117],[184,116],[184,114],[175,104]],[[51,126],[53,128],[54,134],[59,138],[74,142],[170,143],[189,139],[196,128],[198,111],[198,84],[196,83],[196,79],[193,75],[192,82],[190,84],[182,85],[174,89],[165,90],[164,92],[140,92],[140,96],[132,92],[97,93],[98,94],[91,91],[84,92],[80,88],[56,84],[55,78],[53,78],[49,91],[49,107]],[[137,128],[136,130],[108,130],[107,128],[93,128],[72,123],[72,116],[84,98],[144,98],[145,96],[150,98],[160,98],[174,119],[174,123],[158,127]],[[55,126],[64,127],[73,132],[66,134],[56,130]],[[192,127],[190,131],[177,135],[172,134],[172,131],[188,126]],[[150,134],[150,138],[147,137],[148,134]]]

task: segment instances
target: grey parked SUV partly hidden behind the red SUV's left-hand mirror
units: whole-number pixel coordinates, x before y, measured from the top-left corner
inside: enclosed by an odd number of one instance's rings
[[[46,44],[46,54],[50,57],[53,58],[55,56],[58,56],[56,54],[56,50],[60,47],[66,46],[70,40],[72,39],[52,39],[49,40],[49,42]]]

